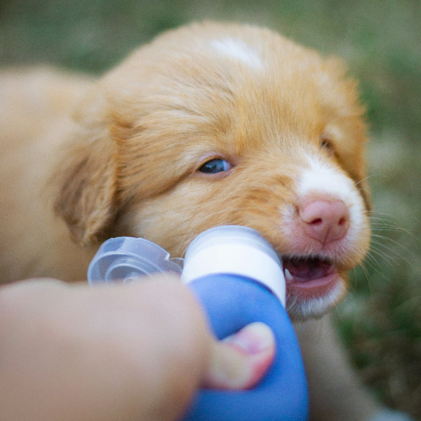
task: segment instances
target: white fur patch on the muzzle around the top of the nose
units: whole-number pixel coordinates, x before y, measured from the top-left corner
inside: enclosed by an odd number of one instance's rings
[[[365,208],[354,181],[316,156],[308,155],[307,162],[309,168],[302,172],[298,182],[298,196],[304,198],[311,194],[326,194],[341,199],[349,208],[351,220],[360,226]]]

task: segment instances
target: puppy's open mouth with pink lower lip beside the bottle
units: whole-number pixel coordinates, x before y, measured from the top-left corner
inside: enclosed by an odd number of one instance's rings
[[[340,279],[333,262],[319,256],[283,257],[286,290],[300,290],[300,295],[323,295]]]

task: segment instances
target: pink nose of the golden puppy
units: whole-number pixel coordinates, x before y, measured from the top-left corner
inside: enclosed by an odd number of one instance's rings
[[[342,200],[314,200],[298,208],[302,228],[323,244],[340,240],[349,227],[349,210]]]

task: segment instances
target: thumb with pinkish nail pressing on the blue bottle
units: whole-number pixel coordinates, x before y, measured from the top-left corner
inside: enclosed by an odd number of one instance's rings
[[[275,356],[275,347],[274,333],[260,322],[251,323],[215,342],[202,387],[250,389],[267,372]]]

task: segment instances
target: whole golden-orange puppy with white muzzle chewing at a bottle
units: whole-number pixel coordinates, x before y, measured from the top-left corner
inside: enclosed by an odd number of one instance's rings
[[[16,73],[0,82],[4,281],[85,279],[112,236],[181,256],[203,230],[235,224],[283,259],[294,321],[345,294],[368,250],[370,199],[363,107],[340,61],[208,22],[159,36],[98,81]],[[312,416],[368,420],[378,406],[328,325],[297,325]]]

